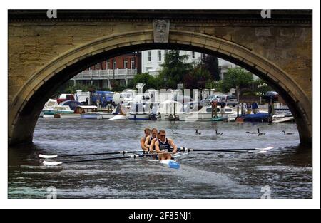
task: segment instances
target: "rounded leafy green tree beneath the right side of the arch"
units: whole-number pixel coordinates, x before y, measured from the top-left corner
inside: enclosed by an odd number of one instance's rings
[[[223,92],[228,92],[230,88],[244,88],[248,87],[253,81],[252,73],[245,71],[243,68],[229,68],[225,73],[222,81]]]

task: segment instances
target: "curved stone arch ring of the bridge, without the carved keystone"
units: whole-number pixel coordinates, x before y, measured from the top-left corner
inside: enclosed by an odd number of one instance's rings
[[[311,101],[289,74],[248,48],[215,36],[170,30],[168,43],[154,43],[153,30],[104,36],[63,53],[36,71],[9,104],[9,145],[32,142],[39,113],[59,85],[108,57],[131,51],[178,48],[209,53],[248,69],[284,98],[295,116],[302,143],[312,142]]]

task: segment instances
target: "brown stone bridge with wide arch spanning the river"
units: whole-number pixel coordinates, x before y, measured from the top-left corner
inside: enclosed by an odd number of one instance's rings
[[[153,20],[170,21],[155,42]],[[177,48],[223,58],[267,81],[287,102],[302,143],[312,142],[312,11],[9,11],[9,145],[32,142],[54,91],[106,58]]]

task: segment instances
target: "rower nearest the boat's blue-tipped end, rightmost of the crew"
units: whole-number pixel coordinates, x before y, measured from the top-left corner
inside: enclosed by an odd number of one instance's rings
[[[159,160],[170,160],[172,155],[170,155],[170,148],[173,147],[173,154],[177,152],[177,146],[173,140],[166,138],[165,130],[160,130],[160,138],[155,142],[155,149],[158,154]],[[163,153],[163,154],[162,154]]]

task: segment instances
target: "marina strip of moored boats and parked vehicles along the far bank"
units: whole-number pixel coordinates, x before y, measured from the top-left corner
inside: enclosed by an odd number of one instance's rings
[[[81,90],[77,90],[78,93]],[[152,93],[158,93],[158,90],[152,90]],[[270,110],[266,108],[265,103],[258,105],[258,111],[255,113],[248,113],[246,108],[243,108],[243,103],[237,103],[238,100],[233,101],[233,107],[225,105],[228,103],[227,95],[215,96],[215,105],[213,105],[213,95],[209,95],[205,100],[198,100],[196,98],[193,101],[176,101],[164,100],[164,98],[177,98],[180,91],[172,90],[168,95],[156,95],[140,94],[126,95],[126,98],[121,98],[121,93],[108,92],[109,95],[113,95],[103,108],[100,105],[86,105],[86,103],[80,103],[76,100],[63,101],[60,105],[57,105],[57,100],[49,99],[44,105],[39,117],[42,118],[86,118],[86,119],[125,119],[125,117],[116,117],[116,115],[126,116],[129,120],[180,120],[180,121],[224,121],[224,122],[237,122],[237,123],[283,123],[283,122],[295,122],[295,119],[290,113],[288,108],[278,108],[280,103],[275,103]],[[124,94],[124,93],[123,93]],[[66,94],[63,94],[66,95]],[[75,95],[74,98],[79,98]],[[91,96],[88,93],[90,100]],[[153,100],[151,100],[153,98]],[[160,100],[160,98],[162,98]],[[220,100],[219,98],[226,98]],[[211,101],[212,100],[212,101]],[[125,102],[123,102],[125,101]],[[85,105],[83,105],[85,104]],[[108,105],[108,109],[106,109]],[[283,107],[283,105],[281,105]],[[285,107],[287,107],[285,105]],[[269,113],[269,112],[270,113]],[[246,113],[245,113],[246,112]]]

